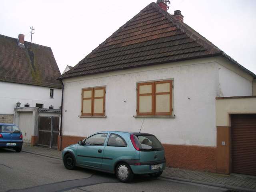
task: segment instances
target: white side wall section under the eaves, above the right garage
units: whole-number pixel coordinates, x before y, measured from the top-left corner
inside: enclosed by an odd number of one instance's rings
[[[234,64],[219,60],[219,92],[218,97],[252,96],[252,77]]]

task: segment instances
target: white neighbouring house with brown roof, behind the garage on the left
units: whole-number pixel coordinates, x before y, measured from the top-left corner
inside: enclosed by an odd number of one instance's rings
[[[16,107],[60,109],[59,76],[50,47],[0,35],[0,122],[13,123]]]

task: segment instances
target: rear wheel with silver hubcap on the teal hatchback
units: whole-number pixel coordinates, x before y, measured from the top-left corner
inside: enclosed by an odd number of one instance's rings
[[[131,182],[133,179],[133,172],[130,166],[126,163],[120,163],[116,166],[116,177],[124,183]]]

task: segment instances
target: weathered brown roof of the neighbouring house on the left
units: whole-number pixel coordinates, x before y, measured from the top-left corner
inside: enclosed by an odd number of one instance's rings
[[[0,81],[62,89],[60,70],[50,47],[0,35]],[[30,50],[30,47],[32,51]]]

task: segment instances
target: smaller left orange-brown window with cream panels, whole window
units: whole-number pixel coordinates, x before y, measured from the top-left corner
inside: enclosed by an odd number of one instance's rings
[[[105,115],[105,87],[82,90],[82,116]]]

